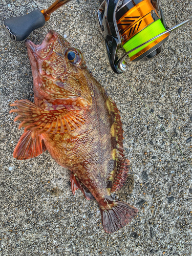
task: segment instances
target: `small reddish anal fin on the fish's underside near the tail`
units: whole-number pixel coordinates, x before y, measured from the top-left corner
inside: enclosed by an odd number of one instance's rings
[[[72,172],[71,172],[71,177],[70,177],[70,181],[71,181],[71,189],[72,189],[72,193],[73,195],[75,195],[75,191],[76,189],[80,188],[82,191],[82,194],[84,195],[84,197],[87,200],[92,200],[95,199],[94,196],[91,194],[90,190],[84,186],[79,179],[77,178],[77,176],[75,176]]]

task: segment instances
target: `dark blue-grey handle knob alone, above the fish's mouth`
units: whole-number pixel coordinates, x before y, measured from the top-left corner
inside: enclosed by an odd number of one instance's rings
[[[25,40],[35,29],[46,23],[44,14],[34,10],[27,15],[8,18],[4,21],[4,28],[8,36],[15,41]]]

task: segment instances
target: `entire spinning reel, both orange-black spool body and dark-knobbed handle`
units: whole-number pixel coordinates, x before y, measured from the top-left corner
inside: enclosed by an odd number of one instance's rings
[[[54,11],[70,1],[56,0],[48,9],[8,18],[4,21],[4,28],[12,40],[22,41],[33,30],[44,26]],[[97,11],[97,18],[111,68],[117,74],[127,69],[126,57],[130,61],[145,61],[158,55],[169,33],[192,19],[168,28],[159,0],[104,0]],[[124,48],[126,53],[119,58],[120,48]]]

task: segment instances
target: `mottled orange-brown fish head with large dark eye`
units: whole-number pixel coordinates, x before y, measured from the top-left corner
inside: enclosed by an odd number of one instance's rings
[[[95,79],[87,69],[81,52],[51,30],[41,45],[26,40],[31,63],[34,93],[49,100],[81,99],[85,106],[92,104]],[[39,96],[39,95],[38,95]]]

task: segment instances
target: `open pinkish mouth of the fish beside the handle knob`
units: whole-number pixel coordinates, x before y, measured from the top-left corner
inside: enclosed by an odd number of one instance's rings
[[[25,45],[28,49],[28,51],[33,52],[38,55],[39,51],[44,50],[49,44],[51,44],[53,41],[56,41],[58,37],[58,33],[54,30],[50,30],[44,40],[42,41],[41,45],[35,45],[34,42],[32,42],[29,39],[25,40]]]

